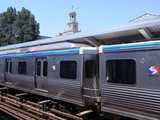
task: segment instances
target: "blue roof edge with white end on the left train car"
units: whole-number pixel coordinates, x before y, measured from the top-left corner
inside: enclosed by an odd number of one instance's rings
[[[81,47],[81,48],[67,48],[57,50],[42,50],[42,51],[28,51],[18,53],[0,53],[0,58],[17,58],[17,57],[43,57],[50,55],[82,55],[82,54],[96,54],[96,47]]]

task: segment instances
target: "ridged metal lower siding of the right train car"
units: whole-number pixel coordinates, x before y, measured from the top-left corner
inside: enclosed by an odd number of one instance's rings
[[[102,86],[102,110],[106,107],[126,108],[145,113],[160,113],[160,90],[137,87],[107,85]]]

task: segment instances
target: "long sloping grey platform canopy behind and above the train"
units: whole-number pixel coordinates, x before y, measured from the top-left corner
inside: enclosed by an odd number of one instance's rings
[[[30,46],[41,46],[51,43],[72,42],[83,43],[91,46],[100,46],[102,44],[139,42],[152,40],[160,37],[160,19],[129,23],[122,27],[99,31],[96,33],[75,33],[63,35],[55,38],[35,40],[31,42],[19,43],[0,47],[0,51],[25,48]]]

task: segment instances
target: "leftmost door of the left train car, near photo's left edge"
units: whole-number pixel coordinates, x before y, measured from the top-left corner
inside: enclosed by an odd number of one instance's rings
[[[10,59],[5,60],[5,82],[11,83],[10,75],[12,73],[12,61]]]

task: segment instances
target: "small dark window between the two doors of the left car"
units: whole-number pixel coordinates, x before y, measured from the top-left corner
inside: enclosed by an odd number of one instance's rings
[[[27,64],[26,64],[26,62],[19,62],[18,63],[18,73],[19,74],[26,74],[27,73]]]

